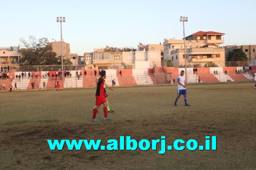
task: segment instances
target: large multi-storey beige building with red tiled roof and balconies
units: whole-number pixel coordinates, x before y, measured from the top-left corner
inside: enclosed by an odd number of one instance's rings
[[[209,62],[225,66],[224,33],[198,31],[185,37],[186,64],[189,67],[208,66]],[[164,60],[172,61],[174,67],[185,65],[184,39],[164,39]]]

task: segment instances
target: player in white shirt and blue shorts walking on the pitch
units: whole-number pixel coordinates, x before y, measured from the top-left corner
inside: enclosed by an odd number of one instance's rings
[[[187,90],[186,90],[186,86],[185,86],[185,80],[184,80],[184,71],[182,70],[180,72],[180,75],[178,76],[177,80],[178,80],[178,96],[174,102],[174,106],[177,106],[177,102],[178,102],[178,99],[180,98],[181,95],[184,96],[184,102],[185,102],[185,106],[190,106],[188,104],[188,100],[187,100]]]

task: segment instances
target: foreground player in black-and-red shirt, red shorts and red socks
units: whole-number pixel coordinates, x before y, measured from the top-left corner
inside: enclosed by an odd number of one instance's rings
[[[103,111],[104,111],[104,120],[111,120],[110,117],[108,117],[108,103],[106,100],[106,97],[108,96],[105,93],[105,81],[104,78],[106,76],[106,71],[105,70],[101,70],[100,72],[100,78],[96,78],[96,82],[97,82],[97,89],[96,89],[96,103],[95,103],[95,107],[93,109],[93,115],[92,115],[92,121],[99,121],[99,119],[96,118],[97,115],[97,111],[100,108],[100,105],[103,104]],[[111,89],[111,87],[110,87]]]

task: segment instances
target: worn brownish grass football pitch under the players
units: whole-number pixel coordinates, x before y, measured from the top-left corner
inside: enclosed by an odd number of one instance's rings
[[[256,90],[253,82],[188,84],[174,106],[177,86],[118,87],[109,94],[111,121],[102,106],[90,121],[95,88],[1,92],[0,169],[256,169]],[[47,139],[137,141],[216,136],[216,150],[50,150]]]

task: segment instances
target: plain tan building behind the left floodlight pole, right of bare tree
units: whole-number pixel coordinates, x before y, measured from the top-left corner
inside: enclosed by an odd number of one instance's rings
[[[52,47],[52,52],[55,52],[59,57],[61,55],[61,41],[52,41],[51,43],[47,43]],[[62,56],[63,59],[71,59],[70,58],[70,44],[62,41]]]

